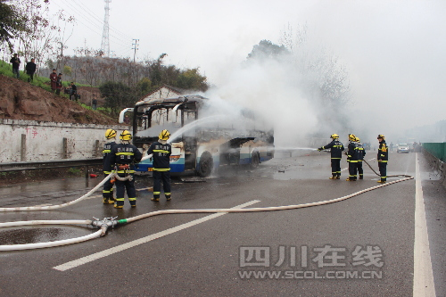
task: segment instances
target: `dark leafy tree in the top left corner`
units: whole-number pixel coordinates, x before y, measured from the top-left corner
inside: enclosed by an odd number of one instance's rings
[[[21,32],[27,31],[28,19],[25,14],[14,6],[6,4],[7,0],[0,0],[0,40],[7,43],[12,53],[12,39]]]

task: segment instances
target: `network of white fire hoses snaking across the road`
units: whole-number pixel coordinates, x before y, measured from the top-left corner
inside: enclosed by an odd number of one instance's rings
[[[367,161],[366,161],[366,164],[368,164]],[[368,164],[368,166],[370,167],[370,169],[372,169],[372,167],[369,164]],[[376,173],[376,171],[374,169],[372,169],[372,170]],[[112,175],[113,174],[111,173],[109,176],[105,177],[100,184],[95,186],[95,188],[92,189],[88,193],[94,192],[95,189],[97,189],[99,186],[102,186],[103,183],[105,183],[105,181],[108,178],[110,178]],[[378,174],[376,173],[376,175],[378,175]],[[85,236],[80,236],[77,238],[65,239],[65,240],[60,240],[60,241],[47,242],[47,243],[26,243],[26,244],[0,245],[0,252],[32,250],[32,249],[39,249],[39,248],[46,248],[46,247],[61,246],[61,245],[66,245],[66,244],[71,244],[71,243],[81,243],[81,242],[85,242],[90,239],[94,239],[94,238],[98,238],[103,235],[106,235],[106,232],[109,227],[118,227],[118,226],[129,224],[131,222],[135,222],[136,220],[139,220],[139,219],[146,219],[146,218],[150,218],[153,216],[159,216],[162,214],[277,211],[277,210],[295,210],[295,209],[301,209],[301,208],[306,208],[306,207],[325,205],[325,204],[329,204],[329,203],[341,202],[343,200],[347,200],[347,199],[357,196],[359,194],[364,194],[364,193],[376,190],[376,189],[384,187],[384,186],[390,186],[390,185],[400,183],[403,181],[407,181],[409,179],[414,178],[414,177],[411,177],[408,175],[395,175],[395,176],[388,176],[388,177],[405,177],[405,178],[394,180],[392,182],[388,182],[388,183],[378,185],[378,186],[372,186],[367,189],[361,190],[359,192],[355,192],[353,194],[345,195],[340,198],[335,198],[335,199],[321,201],[321,202],[310,202],[310,203],[296,204],[296,205],[258,207],[258,208],[248,208],[248,209],[157,210],[157,211],[148,212],[148,213],[145,213],[142,215],[138,215],[136,217],[132,217],[132,218],[128,218],[128,219],[118,219],[118,220],[117,220],[117,218],[104,218],[102,220],[93,218],[94,220],[89,220],[89,219],[86,219],[86,220],[33,220],[33,221],[18,221],[18,222],[0,223],[0,227],[20,227],[20,226],[37,226],[37,225],[87,225],[87,226],[89,225],[92,227],[99,228],[98,231],[96,231],[95,233],[93,233],[91,235],[85,235]],[[81,198],[85,197],[86,195],[87,194],[85,194],[84,196],[78,198],[77,200],[75,200],[73,202],[61,204],[60,207],[58,207],[58,208],[61,208],[62,205],[68,206],[68,205],[73,204],[74,202],[78,202],[81,200]],[[85,198],[83,198],[83,199],[85,199]],[[54,205],[54,206],[57,206],[57,205]],[[13,209],[14,210],[16,210],[16,209],[30,210],[30,208],[13,208]],[[50,210],[50,209],[53,210],[55,208],[49,208],[47,206],[45,207],[45,210]],[[2,210],[5,211],[4,209],[0,209],[0,211],[2,211]],[[42,209],[42,210],[44,210],[44,209]]]

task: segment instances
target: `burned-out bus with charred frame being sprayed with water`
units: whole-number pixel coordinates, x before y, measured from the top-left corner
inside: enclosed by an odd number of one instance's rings
[[[219,166],[249,164],[253,168],[274,156],[272,128],[252,111],[234,116],[212,111],[210,99],[201,95],[149,98],[120,112],[120,122],[131,112],[133,144],[145,151],[158,140],[162,129],[170,132],[170,172],[194,171],[208,177]],[[137,165],[138,171],[152,171],[153,160]]]

